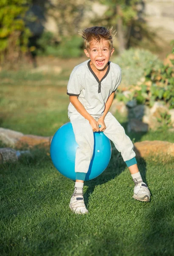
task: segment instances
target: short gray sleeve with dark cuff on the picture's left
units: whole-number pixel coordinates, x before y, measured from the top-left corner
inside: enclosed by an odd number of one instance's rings
[[[76,70],[73,70],[70,74],[70,79],[67,84],[67,95],[79,96],[81,92],[80,77]]]

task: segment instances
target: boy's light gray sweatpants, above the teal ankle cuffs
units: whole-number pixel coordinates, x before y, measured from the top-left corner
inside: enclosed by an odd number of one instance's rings
[[[98,121],[98,119],[95,120]],[[70,116],[70,121],[73,126],[76,143],[79,145],[76,151],[75,172],[87,173],[90,166],[90,161],[93,157],[93,129],[90,122],[81,116],[81,114]],[[106,125],[104,134],[114,143],[115,148],[121,152],[123,160],[127,161],[135,157],[133,143],[125,134],[124,128],[117,121],[117,119],[112,116],[110,112],[108,112],[104,122]]]

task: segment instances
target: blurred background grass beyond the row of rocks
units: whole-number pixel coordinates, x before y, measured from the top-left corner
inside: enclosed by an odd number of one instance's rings
[[[60,75],[30,73],[29,71],[0,72],[0,127],[24,134],[52,136],[69,122],[67,81],[71,70]],[[126,130],[127,120],[118,113],[115,117]],[[134,140],[167,140],[174,142],[168,128],[148,133],[128,133]]]

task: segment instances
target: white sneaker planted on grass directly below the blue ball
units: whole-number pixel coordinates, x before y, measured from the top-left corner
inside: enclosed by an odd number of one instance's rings
[[[85,207],[84,204],[84,199],[83,196],[79,195],[79,196],[72,196],[71,200],[70,200],[70,205],[69,205],[70,209],[77,214],[85,214],[88,213],[87,208]]]

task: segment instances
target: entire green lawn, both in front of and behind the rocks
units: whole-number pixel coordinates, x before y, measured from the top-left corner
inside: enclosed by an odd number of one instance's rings
[[[68,122],[61,75],[0,73],[0,126],[51,136]],[[117,114],[115,114],[118,116]],[[126,128],[126,119],[118,116]],[[134,141],[174,142],[168,128],[128,134]],[[33,149],[16,163],[0,166],[0,255],[172,256],[174,255],[174,159],[139,159],[152,193],[150,203],[132,199],[134,183],[116,150],[102,175],[85,182],[88,215],[68,207],[74,182],[54,168],[49,152]]]

